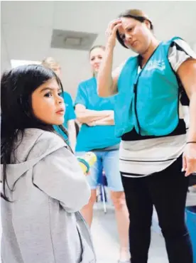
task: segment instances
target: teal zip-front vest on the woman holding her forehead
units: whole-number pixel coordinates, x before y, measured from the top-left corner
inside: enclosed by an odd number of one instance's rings
[[[127,60],[118,80],[115,134],[168,135],[178,126],[178,80],[168,60],[173,40],[162,42],[138,72],[139,57]]]

